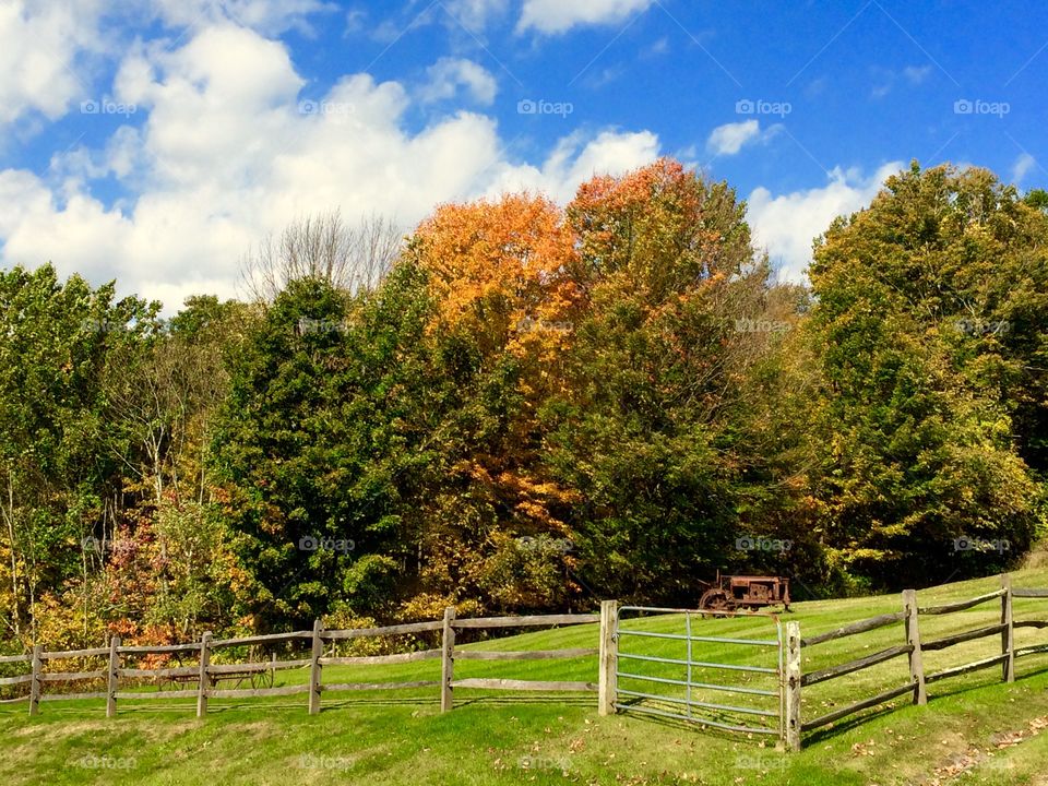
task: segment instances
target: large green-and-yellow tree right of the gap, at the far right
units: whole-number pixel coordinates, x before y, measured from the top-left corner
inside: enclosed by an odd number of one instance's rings
[[[914,164],[817,243],[817,497],[847,570],[931,582],[988,572],[1031,543],[1046,226],[985,170]],[[965,537],[1009,549],[958,549]]]

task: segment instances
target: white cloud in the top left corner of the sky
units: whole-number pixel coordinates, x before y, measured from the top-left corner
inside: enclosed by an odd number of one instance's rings
[[[91,96],[80,57],[103,48],[98,0],[0,3],[0,124],[32,112],[55,120]]]

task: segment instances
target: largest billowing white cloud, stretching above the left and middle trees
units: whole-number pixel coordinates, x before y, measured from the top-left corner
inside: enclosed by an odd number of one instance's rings
[[[117,278],[170,312],[191,294],[233,296],[249,247],[309,213],[376,212],[410,229],[441,202],[522,187],[565,200],[595,171],[658,154],[650,132],[604,132],[517,163],[484,115],[409,131],[397,82],[347,75],[308,105],[303,84],[284,45],[229,25],[175,51],[133,48],[114,92],[138,105],[134,127],[57,155],[44,175],[0,170],[0,264]],[[91,187],[106,176],[138,195],[104,203]]]

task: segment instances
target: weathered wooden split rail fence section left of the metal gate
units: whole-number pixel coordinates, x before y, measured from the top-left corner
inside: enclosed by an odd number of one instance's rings
[[[610,621],[602,615],[537,615],[528,617],[480,617],[455,618],[453,608],[446,609],[442,620],[428,622],[410,622],[407,624],[388,626],[382,628],[362,628],[350,630],[324,630],[320,620],[312,631],[293,631],[289,633],[272,633],[266,635],[246,636],[239,639],[214,639],[211,633],[204,633],[199,642],[188,644],[166,644],[157,646],[123,645],[119,636],[114,636],[107,647],[88,650],[69,650],[61,652],[45,652],[43,645],[37,644],[32,653],[25,655],[0,656],[0,664],[25,663],[29,664],[31,672],[15,677],[0,678],[0,686],[28,683],[27,695],[4,700],[10,702],[28,702],[29,715],[39,712],[41,701],[69,701],[75,699],[105,699],[106,715],[116,714],[119,700],[150,700],[150,699],[196,699],[196,716],[203,717],[207,713],[209,699],[241,699],[259,696],[284,696],[306,693],[311,715],[320,712],[321,694],[336,691],[360,690],[397,690],[414,688],[438,688],[440,691],[441,711],[452,708],[455,688],[484,690],[514,690],[514,691],[598,691],[598,686],[585,681],[538,681],[517,679],[455,679],[455,660],[534,660],[547,658],[577,658],[596,656],[599,647],[544,650],[525,652],[481,652],[477,650],[462,650],[455,647],[455,633],[461,630],[477,629],[508,629],[528,627],[574,626],[602,623],[602,628]],[[372,655],[359,657],[334,657],[324,655],[324,646],[331,642],[353,639],[406,635],[414,633],[441,633],[441,645],[436,650],[408,652],[395,655]],[[310,656],[291,660],[271,659],[260,663],[212,664],[211,656],[215,651],[233,646],[274,646],[285,642],[308,640]],[[170,655],[188,654],[195,656],[194,666],[179,666],[177,668],[128,668],[121,664],[122,657],[128,655]],[[59,671],[50,672],[45,664],[67,658],[107,658],[108,667],[90,671]],[[325,666],[372,666],[381,664],[402,664],[417,660],[439,659],[441,675],[439,680],[420,680],[409,682],[343,682],[324,683],[321,679]],[[270,688],[233,689],[216,688],[223,679],[239,678],[260,672],[272,672],[281,669],[308,668],[308,682],[302,684],[278,686]],[[192,688],[170,691],[121,690],[121,679],[154,681],[168,680],[178,683],[195,683]],[[106,690],[64,693],[48,692],[45,686],[56,682],[100,681],[105,680]]]

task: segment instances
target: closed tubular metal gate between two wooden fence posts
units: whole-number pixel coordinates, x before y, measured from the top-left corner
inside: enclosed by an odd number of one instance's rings
[[[658,617],[641,617],[645,614]],[[647,622],[640,627],[640,619]],[[774,639],[713,635],[750,627],[763,627]],[[621,606],[615,641],[617,711],[783,738],[783,627],[776,615]],[[726,681],[711,674],[723,674]],[[741,699],[720,700],[722,693]]]

